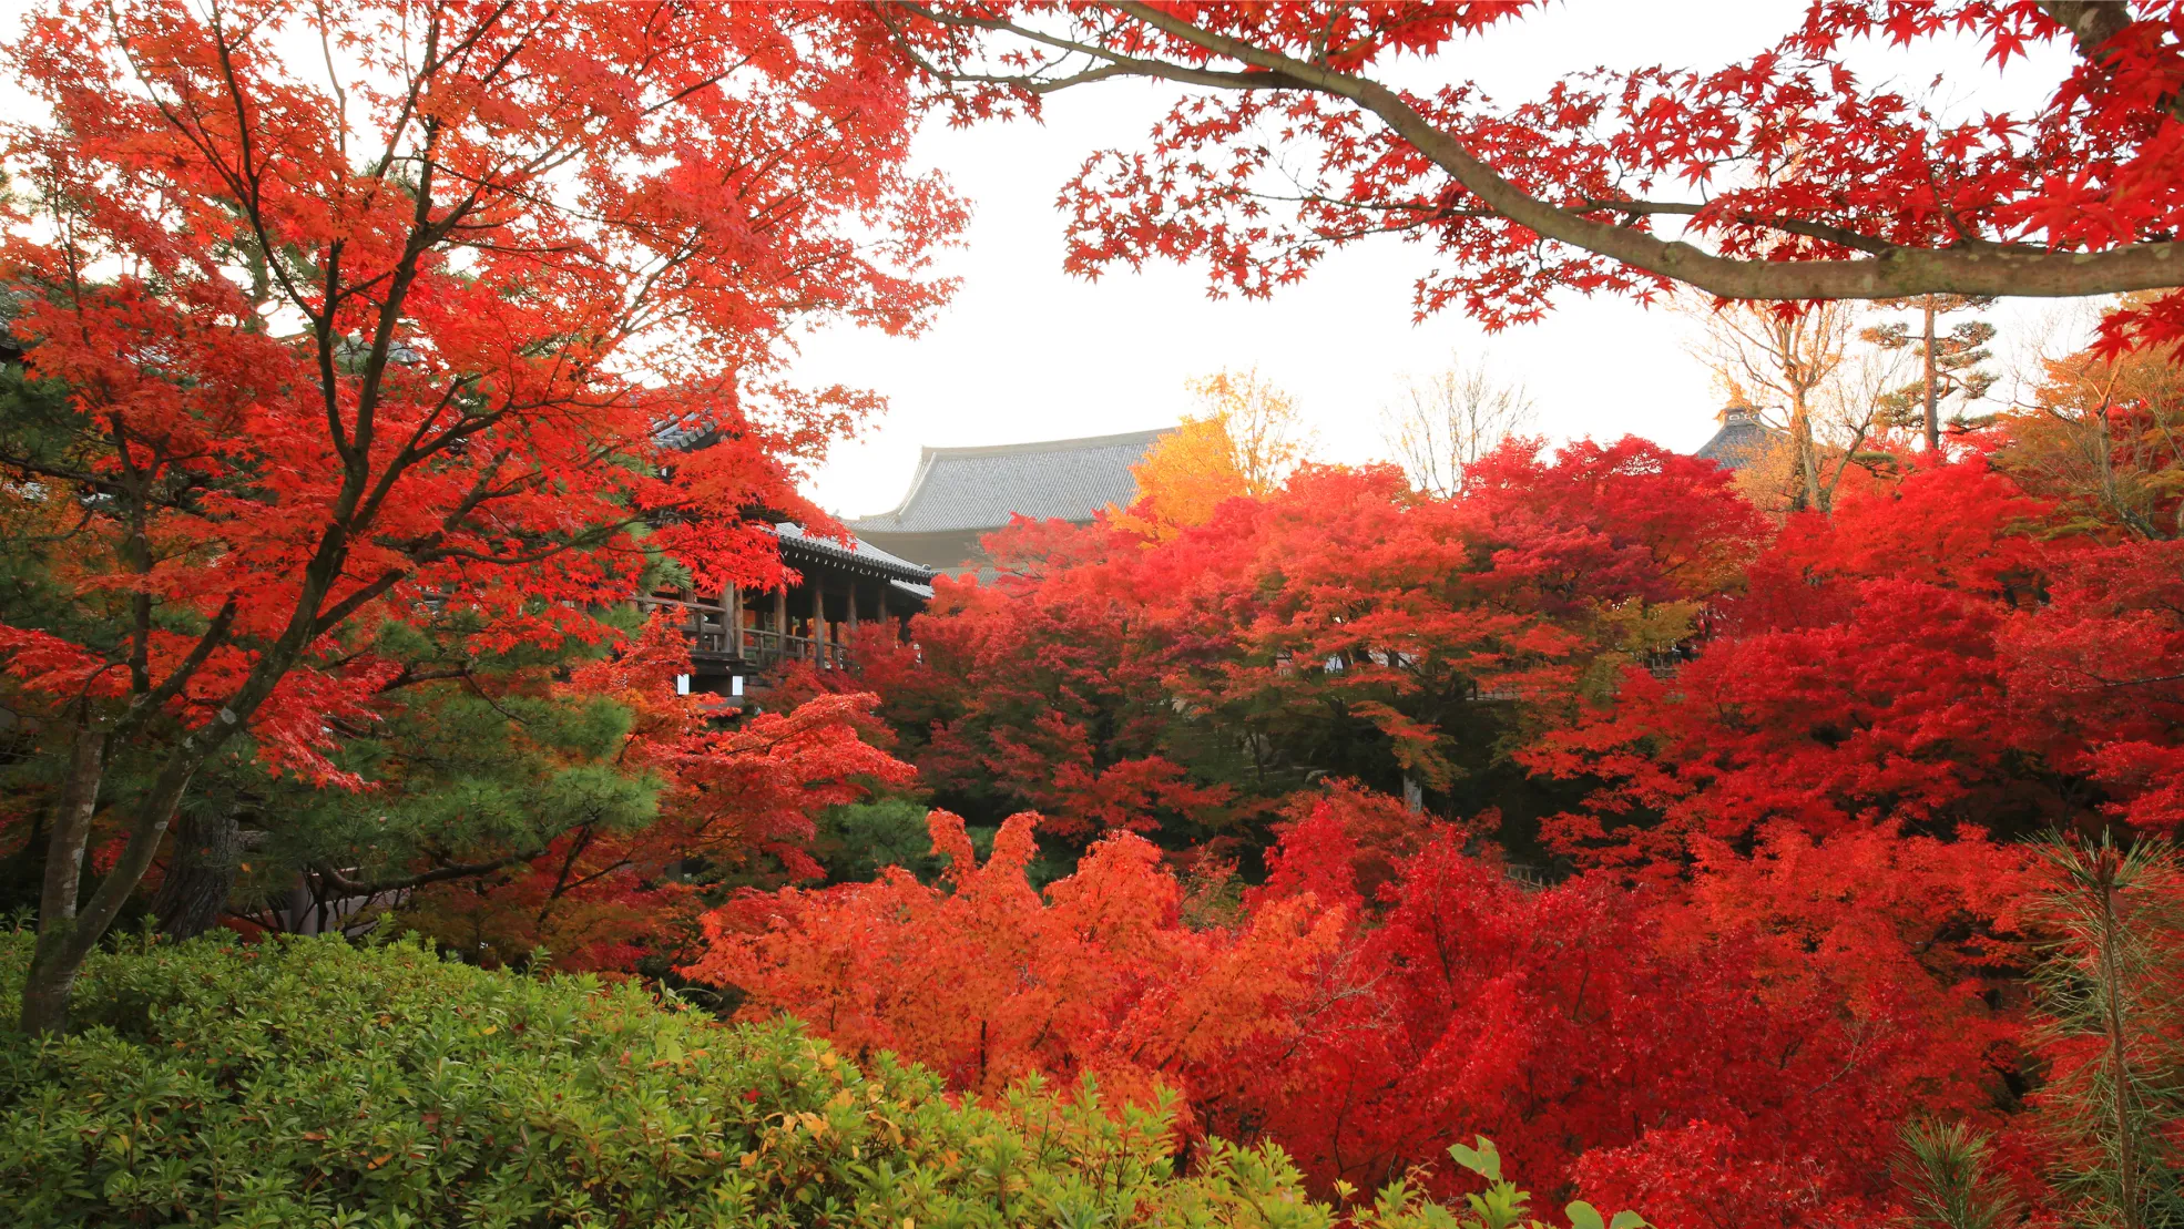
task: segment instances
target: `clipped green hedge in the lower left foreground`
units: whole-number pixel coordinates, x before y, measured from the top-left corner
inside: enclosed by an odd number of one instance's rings
[[[26,934],[0,934],[13,1009]],[[0,1033],[0,1225],[1321,1227],[1275,1148],[1203,1148],[1090,1091],[952,1105],[793,1024],[526,980],[417,945],[146,945],[79,1030]],[[1402,1192],[1367,1222],[1470,1225]],[[1588,1209],[1590,1212],[1590,1209]],[[1498,1220],[1498,1216],[1489,1216]]]

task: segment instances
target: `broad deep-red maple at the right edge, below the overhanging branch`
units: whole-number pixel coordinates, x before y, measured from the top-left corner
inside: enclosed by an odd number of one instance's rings
[[[2173,827],[2175,546],[2062,526],[1981,456],[1793,517],[1695,661],[1520,753],[1597,784],[1551,840],[1673,869],[1771,823]]]

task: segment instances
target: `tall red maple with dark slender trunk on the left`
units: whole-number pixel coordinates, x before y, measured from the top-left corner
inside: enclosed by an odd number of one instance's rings
[[[4,633],[74,731],[24,998],[57,1028],[199,768],[247,733],[323,771],[380,620],[470,611],[491,651],[601,635],[646,552],[775,578],[745,511],[812,515],[793,469],[874,404],[786,384],[775,343],[917,327],[963,212],[828,7],[61,2],[17,33],[57,120],[9,129],[11,332],[72,417],[7,465],[81,500],[118,629]],[[79,912],[122,753],[151,784]]]

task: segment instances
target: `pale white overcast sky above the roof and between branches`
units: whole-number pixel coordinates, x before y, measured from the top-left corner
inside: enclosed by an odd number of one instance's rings
[[[1446,52],[1450,72],[1505,100],[1535,96],[1564,72],[1599,63],[1717,68],[1773,44],[1797,22],[1795,0],[1631,4],[1568,0]],[[1972,44],[1856,52],[1867,81],[1896,79],[1926,94],[1944,74],[1950,111],[2044,100],[2062,52],[2007,74]],[[1046,124],[933,129],[919,159],[943,168],[976,214],[968,244],[946,260],[963,277],[954,303],[924,336],[856,330],[810,338],[797,373],[885,393],[885,419],[843,443],[810,493],[841,515],[895,506],[919,445],[1066,439],[1173,423],[1190,408],[1184,380],[1221,367],[1258,367],[1302,399],[1326,461],[1385,456],[1378,410],[1406,371],[1441,367],[1450,351],[1483,356],[1522,380],[1553,439],[1655,439],[1690,450],[1714,430],[1719,395],[1688,358],[1688,325],[1623,299],[1568,297],[1548,321],[1496,336],[1457,314],[1411,323],[1411,282],[1431,251],[1400,240],[1328,255],[1304,284],[1271,301],[1210,301],[1195,269],[1114,271],[1099,282],[1061,273],[1055,196],[1088,153],[1138,146],[1166,109],[1153,85],[1105,83],[1048,100]],[[2003,345],[2046,332],[2051,303],[2005,303],[1992,319]]]

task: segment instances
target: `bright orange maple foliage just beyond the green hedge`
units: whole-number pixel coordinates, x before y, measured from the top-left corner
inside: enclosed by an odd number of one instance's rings
[[[1286,1009],[1334,950],[1339,910],[1293,899],[1192,928],[1160,851],[1127,832],[1042,893],[1024,878],[1037,823],[1011,816],[978,864],[963,821],[935,810],[939,886],[898,867],[740,897],[705,917],[710,947],[684,974],[745,991],[747,1017],[786,1011],[852,1054],[893,1050],[974,1091],[1090,1074],[1123,1100],[1182,1085],[1203,1102],[1295,1041]]]

